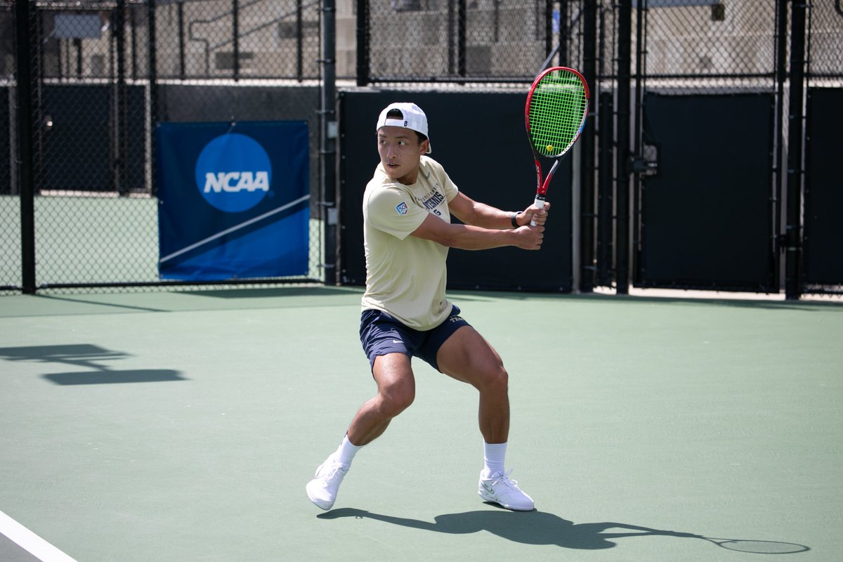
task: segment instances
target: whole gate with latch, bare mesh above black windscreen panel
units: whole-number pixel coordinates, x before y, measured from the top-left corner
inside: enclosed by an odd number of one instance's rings
[[[642,4],[633,283],[777,292],[776,1]]]

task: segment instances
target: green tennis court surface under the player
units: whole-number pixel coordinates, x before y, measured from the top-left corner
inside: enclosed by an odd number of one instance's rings
[[[374,387],[360,292],[285,287],[0,297],[0,512],[78,562],[841,558],[843,306],[451,297],[510,372],[537,511],[481,502],[475,391],[419,361],[312,506]]]

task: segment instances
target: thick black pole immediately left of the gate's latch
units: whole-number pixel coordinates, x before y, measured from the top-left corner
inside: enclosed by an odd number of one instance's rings
[[[615,226],[615,286],[619,295],[629,293],[630,229],[630,89],[632,0],[618,8],[618,136],[617,222]]]

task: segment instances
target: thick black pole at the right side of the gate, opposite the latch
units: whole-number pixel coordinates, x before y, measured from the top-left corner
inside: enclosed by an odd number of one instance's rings
[[[787,226],[785,227],[785,297],[802,293],[802,183],[805,98],[805,4],[791,4],[790,109],[787,132]]]

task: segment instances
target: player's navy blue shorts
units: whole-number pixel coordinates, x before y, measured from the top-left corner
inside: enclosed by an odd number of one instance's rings
[[[369,358],[369,367],[374,367],[374,358],[377,356],[403,353],[427,361],[438,371],[437,351],[457,329],[468,325],[459,316],[459,307],[456,305],[442,324],[423,332],[408,328],[397,318],[380,310],[364,310],[360,316],[360,343]]]

